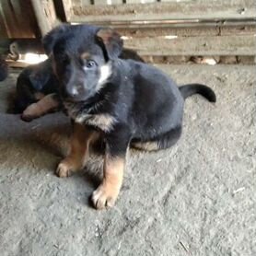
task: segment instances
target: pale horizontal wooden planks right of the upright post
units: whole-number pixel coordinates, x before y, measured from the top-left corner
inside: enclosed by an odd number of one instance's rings
[[[146,58],[256,55],[255,0],[63,2],[68,21],[118,29]]]

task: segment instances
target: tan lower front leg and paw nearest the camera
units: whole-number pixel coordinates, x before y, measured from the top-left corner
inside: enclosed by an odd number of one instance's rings
[[[122,177],[125,159],[110,157],[104,160],[104,178],[99,188],[93,192],[92,202],[97,209],[113,206],[122,187]]]

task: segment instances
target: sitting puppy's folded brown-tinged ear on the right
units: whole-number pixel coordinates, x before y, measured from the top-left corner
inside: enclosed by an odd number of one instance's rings
[[[113,29],[99,29],[97,38],[103,42],[108,57],[111,60],[117,58],[122,52],[123,41],[121,36]]]

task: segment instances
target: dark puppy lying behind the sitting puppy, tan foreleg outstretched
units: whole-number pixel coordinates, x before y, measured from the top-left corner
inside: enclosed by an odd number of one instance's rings
[[[50,54],[47,49],[46,53]],[[130,49],[123,49],[120,58],[144,62]],[[26,67],[17,77],[16,87],[17,95],[13,111],[21,113],[23,121],[29,122],[62,108],[58,80],[52,70],[52,57],[40,64]]]

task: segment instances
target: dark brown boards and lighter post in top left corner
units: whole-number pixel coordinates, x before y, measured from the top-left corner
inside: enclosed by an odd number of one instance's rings
[[[56,18],[53,0],[1,0],[0,39],[41,37],[52,29]]]

